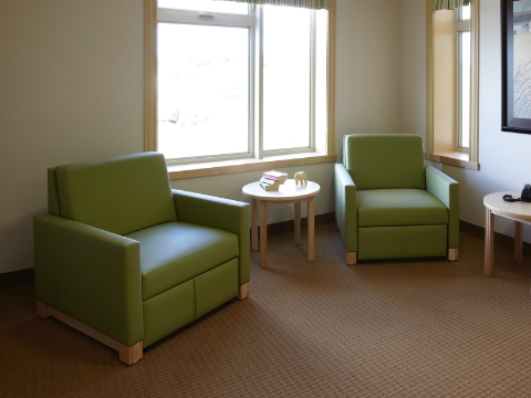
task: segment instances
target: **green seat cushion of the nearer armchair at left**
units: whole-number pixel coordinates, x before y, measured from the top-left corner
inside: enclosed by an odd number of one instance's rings
[[[127,234],[140,243],[143,300],[238,256],[238,237],[171,221]]]

